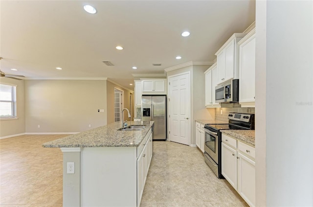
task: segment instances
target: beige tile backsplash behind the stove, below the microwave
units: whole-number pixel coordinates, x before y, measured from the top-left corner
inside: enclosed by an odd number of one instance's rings
[[[215,120],[225,123],[228,123],[228,114],[230,112],[255,113],[255,108],[242,108],[238,103],[222,104],[221,106],[221,108],[215,108]],[[221,110],[223,114],[221,114]]]

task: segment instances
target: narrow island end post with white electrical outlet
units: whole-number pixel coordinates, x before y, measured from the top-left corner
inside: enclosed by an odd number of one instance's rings
[[[63,207],[80,207],[81,148],[61,148],[63,152]],[[74,173],[67,173],[67,163],[74,163]]]

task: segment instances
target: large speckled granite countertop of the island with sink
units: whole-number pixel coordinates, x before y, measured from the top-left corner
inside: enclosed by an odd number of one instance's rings
[[[100,126],[78,134],[43,144],[44,147],[136,147],[145,138],[153,121],[133,122],[128,125],[147,125],[143,130],[120,131],[121,122]]]

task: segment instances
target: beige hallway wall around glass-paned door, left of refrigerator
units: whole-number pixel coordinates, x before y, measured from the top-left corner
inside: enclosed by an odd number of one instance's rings
[[[128,110],[132,110],[132,118],[134,117],[134,96],[132,98],[132,107],[130,101],[130,94],[132,91],[126,90],[110,81],[107,81],[107,111],[108,111],[108,124],[114,122],[114,89],[117,88],[119,90],[124,91],[124,102],[123,108],[128,108]],[[127,112],[124,111],[124,119],[127,118]],[[129,121],[133,120],[128,118]]]

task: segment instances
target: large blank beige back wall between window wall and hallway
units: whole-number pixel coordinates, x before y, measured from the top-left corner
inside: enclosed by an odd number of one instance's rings
[[[81,132],[107,124],[106,82],[25,80],[26,132]]]

